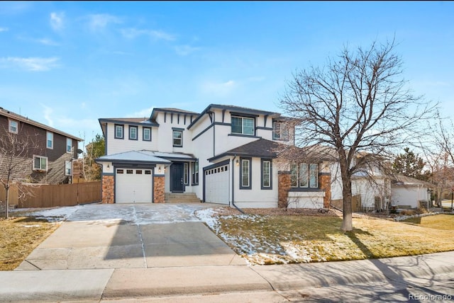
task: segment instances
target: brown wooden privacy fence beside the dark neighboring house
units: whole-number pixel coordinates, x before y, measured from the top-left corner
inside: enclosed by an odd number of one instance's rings
[[[25,186],[25,198],[18,198],[19,190],[11,185],[9,204],[18,208],[74,206],[101,201],[101,181],[58,184],[58,185],[21,185]],[[5,189],[0,188],[0,200],[6,200]]]

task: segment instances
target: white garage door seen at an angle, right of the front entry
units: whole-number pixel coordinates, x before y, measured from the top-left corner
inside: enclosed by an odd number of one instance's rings
[[[205,202],[228,205],[228,164],[205,171]]]

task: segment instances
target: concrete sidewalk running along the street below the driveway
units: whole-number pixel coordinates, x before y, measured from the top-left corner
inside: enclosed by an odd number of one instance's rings
[[[2,302],[70,302],[197,295],[250,296],[247,302],[286,302],[282,293],[371,282],[405,283],[454,274],[454,252],[362,261],[289,265],[218,265],[98,270],[0,272]],[[452,283],[452,281],[451,281]],[[450,287],[453,287],[451,285]],[[453,295],[454,291],[451,294]],[[190,296],[190,297],[189,297]],[[221,296],[222,297],[222,296]],[[211,297],[213,298],[213,297]],[[255,299],[254,299],[255,298]],[[231,299],[231,297],[228,297]],[[265,300],[265,301],[264,301]],[[194,302],[196,302],[194,301]],[[212,301],[211,301],[212,302]]]

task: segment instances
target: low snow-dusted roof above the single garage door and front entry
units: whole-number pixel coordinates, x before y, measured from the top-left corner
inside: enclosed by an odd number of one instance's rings
[[[182,153],[167,153],[160,151],[126,151],[118,154],[110,154],[106,156],[100,156],[95,161],[96,162],[106,162],[106,161],[121,161],[121,162],[152,162],[160,164],[170,164],[170,159],[178,159],[180,161],[194,161],[195,158],[192,154],[182,154]]]

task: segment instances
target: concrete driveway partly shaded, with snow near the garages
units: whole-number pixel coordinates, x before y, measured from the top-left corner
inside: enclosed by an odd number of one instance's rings
[[[200,204],[84,205],[18,270],[246,265],[194,215]]]

